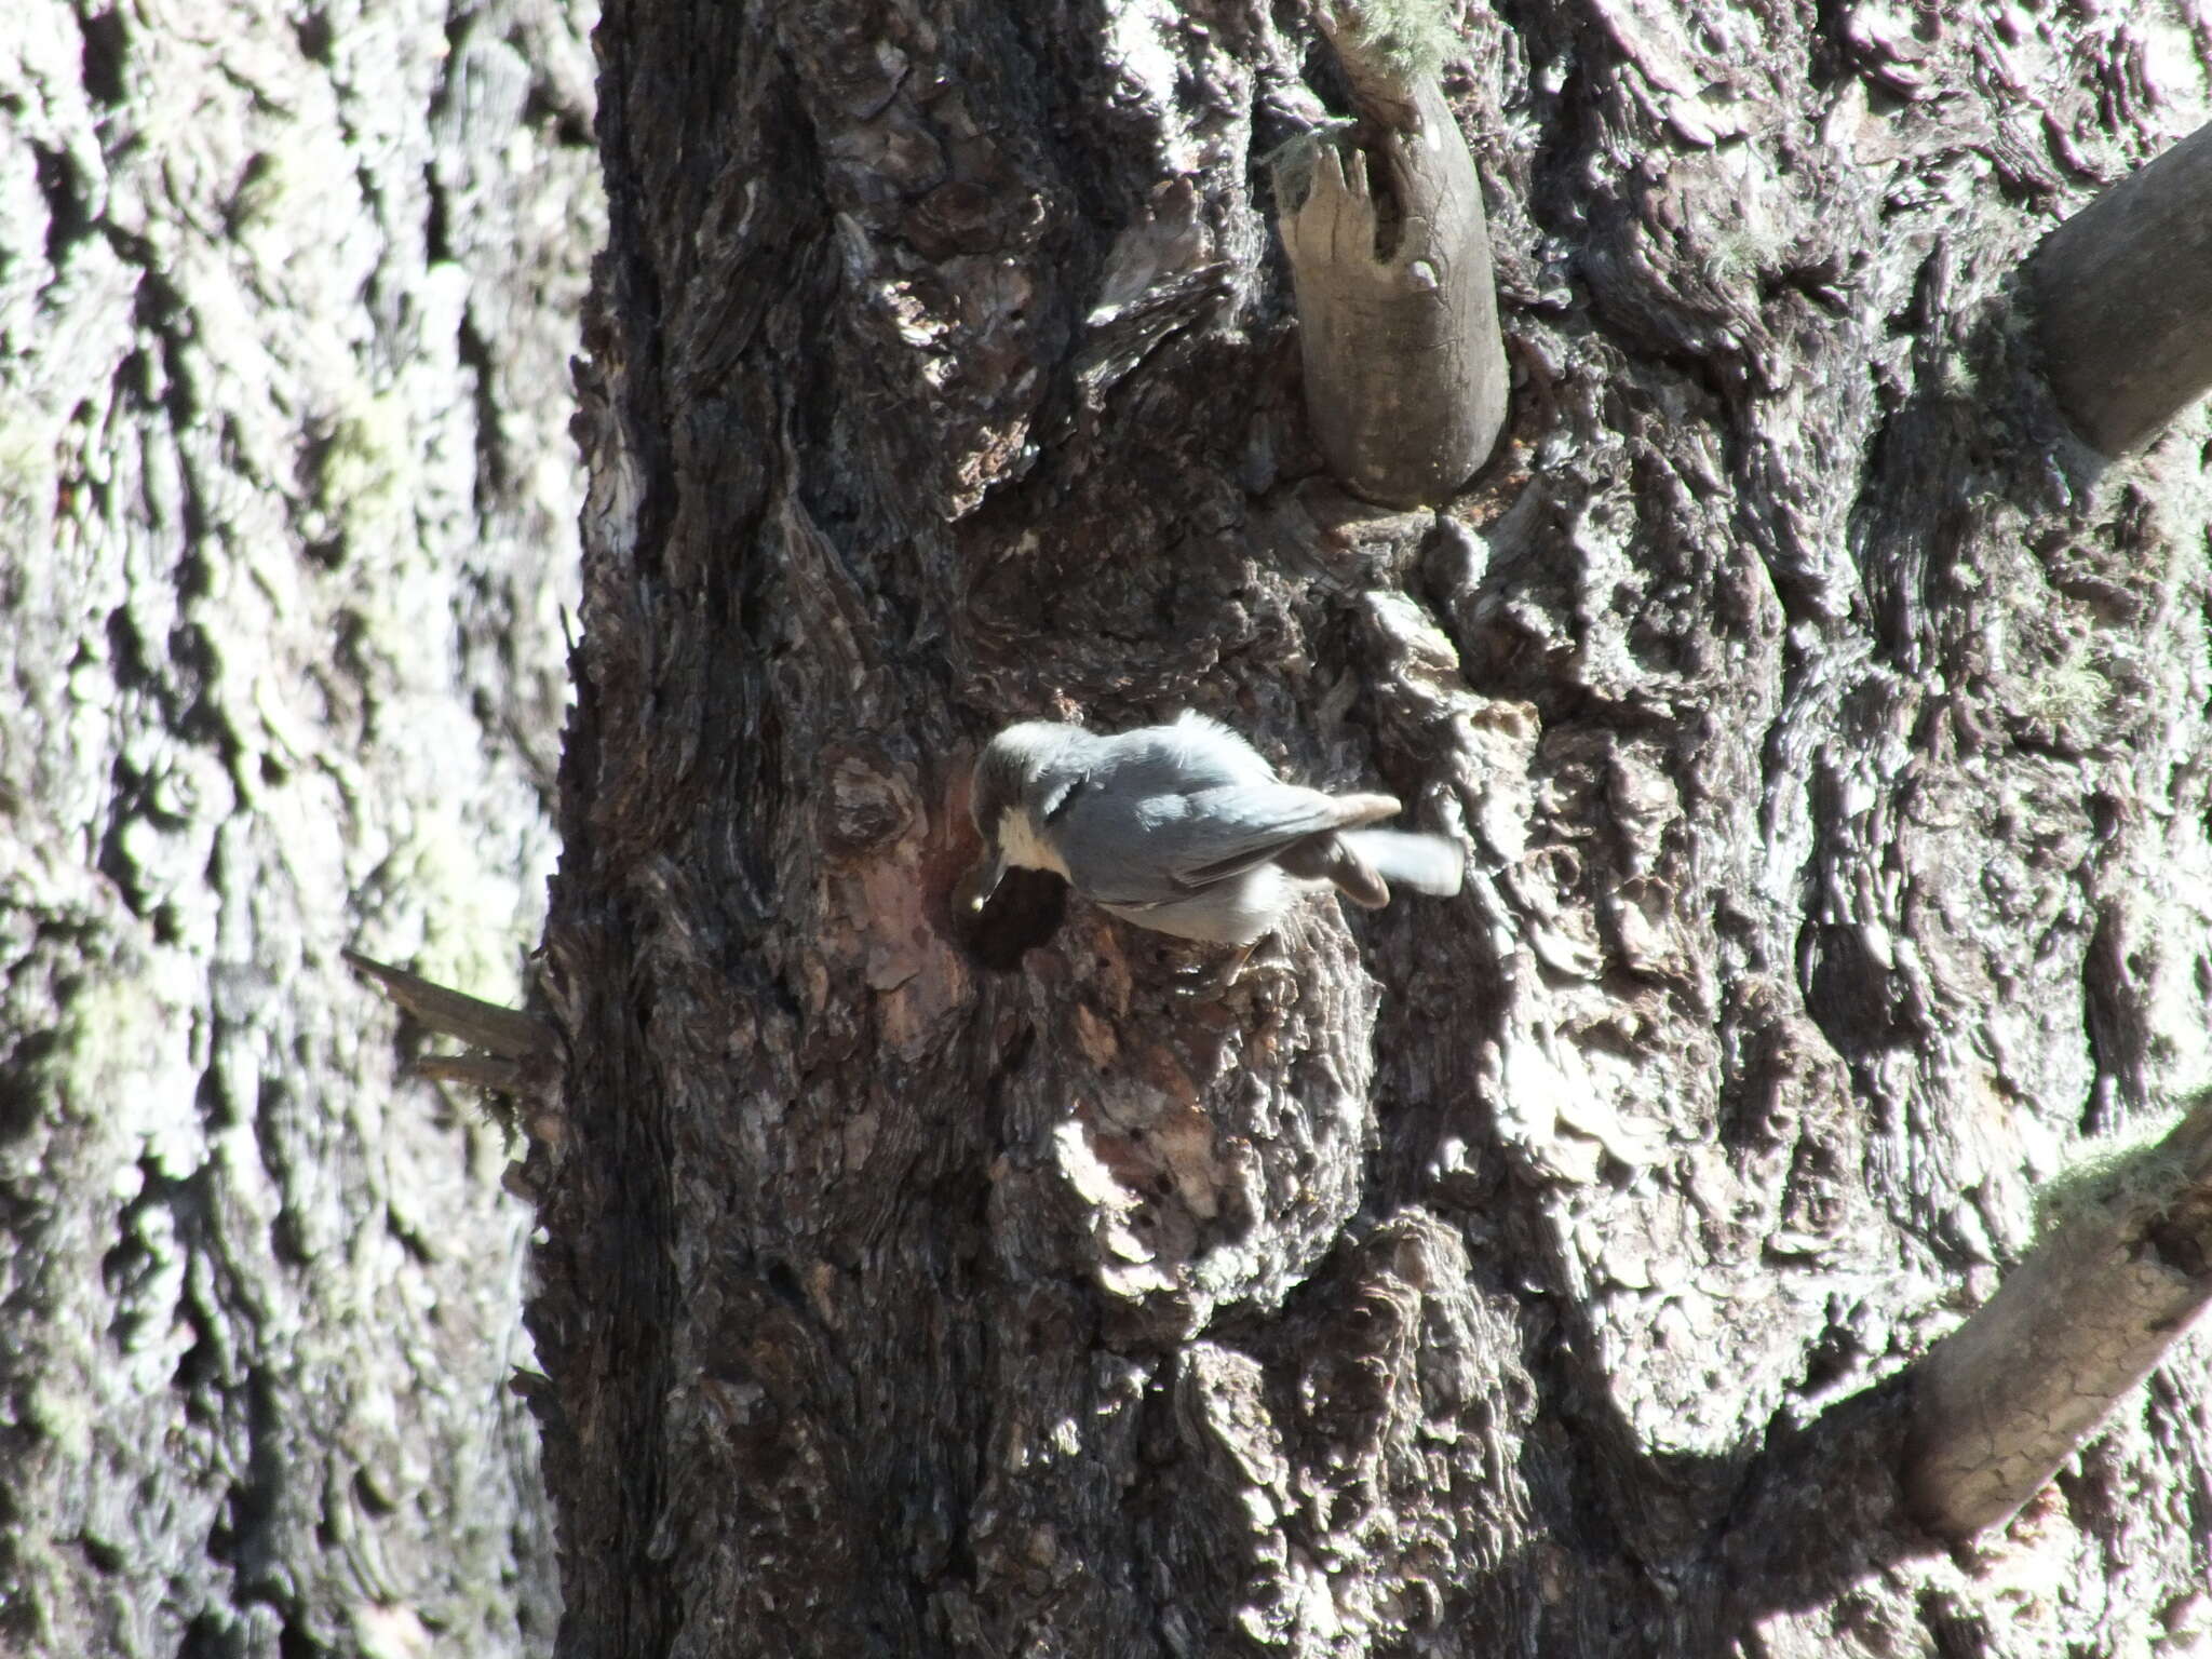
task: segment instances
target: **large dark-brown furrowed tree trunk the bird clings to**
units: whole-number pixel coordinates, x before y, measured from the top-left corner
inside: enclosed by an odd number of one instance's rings
[[[564,1652],[2201,1639],[2192,1365],[1980,1557],[1900,1482],[2035,1186],[2212,1062],[2203,422],[2068,478],[2008,312],[2188,38],[1467,15],[1509,445],[1394,515],[1296,385],[1294,9],[611,7]],[[1048,876],[967,936],[982,741],[1183,706],[1469,891],[1219,998]]]

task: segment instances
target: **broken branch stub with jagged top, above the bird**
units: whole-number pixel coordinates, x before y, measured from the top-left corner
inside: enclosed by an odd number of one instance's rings
[[[1274,168],[1305,409],[1343,484],[1427,507],[1473,476],[1506,416],[1482,181],[1431,77],[1391,100],[1356,84],[1374,150],[1310,133]]]

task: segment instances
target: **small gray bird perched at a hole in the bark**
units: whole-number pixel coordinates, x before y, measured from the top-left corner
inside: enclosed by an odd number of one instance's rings
[[[1396,816],[1394,796],[1283,783],[1203,714],[1119,737],[1009,726],[975,761],[969,810],[984,843],[973,909],[1022,865],[1137,927],[1252,945],[1323,883],[1367,909],[1389,902],[1389,883],[1460,891],[1460,852],[1442,836],[1363,827]]]

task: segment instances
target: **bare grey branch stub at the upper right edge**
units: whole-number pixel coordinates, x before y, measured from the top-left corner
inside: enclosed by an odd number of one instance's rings
[[[2051,389],[2106,456],[2212,389],[2212,126],[2044,237],[2026,288]]]

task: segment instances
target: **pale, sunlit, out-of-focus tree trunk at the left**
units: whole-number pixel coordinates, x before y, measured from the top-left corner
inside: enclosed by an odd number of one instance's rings
[[[365,945],[551,865],[582,7],[0,22],[0,1650],[524,1655],[526,1212]]]

